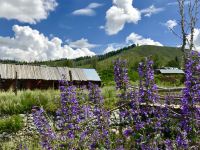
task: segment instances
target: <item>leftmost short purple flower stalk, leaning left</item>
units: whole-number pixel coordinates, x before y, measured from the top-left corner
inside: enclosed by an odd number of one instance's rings
[[[56,139],[56,134],[49,125],[44,115],[44,110],[42,108],[33,107],[32,115],[37,131],[40,133],[42,147],[47,150],[52,150],[52,143]]]

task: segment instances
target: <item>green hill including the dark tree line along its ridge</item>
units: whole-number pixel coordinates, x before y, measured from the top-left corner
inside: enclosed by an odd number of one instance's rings
[[[144,57],[152,56],[156,61],[159,61],[159,66],[165,66],[169,61],[174,60],[175,57],[181,59],[182,52],[174,47],[159,47],[159,46],[130,46],[123,48],[119,51],[110,52],[105,55],[95,57],[81,57],[73,60],[60,59],[49,60],[44,62],[34,62],[36,65],[48,66],[70,66],[70,67],[83,67],[83,68],[96,68],[97,70],[105,70],[113,65],[113,60],[116,58],[126,59],[129,67],[141,61]]]

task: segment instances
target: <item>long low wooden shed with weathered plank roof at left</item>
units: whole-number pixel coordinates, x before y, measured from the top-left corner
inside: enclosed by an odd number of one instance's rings
[[[95,69],[0,64],[0,90],[8,89],[58,89],[59,81],[88,85],[101,85]]]

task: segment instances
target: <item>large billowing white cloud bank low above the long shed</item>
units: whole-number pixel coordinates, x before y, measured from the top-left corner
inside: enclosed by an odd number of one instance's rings
[[[82,44],[79,46],[80,41],[74,42],[74,48],[72,48],[68,44],[63,44],[58,37],[49,39],[29,26],[14,25],[13,31],[14,37],[0,36],[1,59],[34,61],[95,55],[90,50],[94,44],[88,43],[87,39],[81,39]]]

